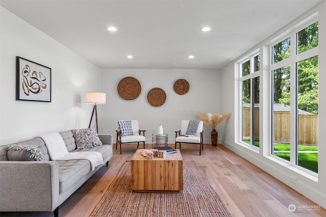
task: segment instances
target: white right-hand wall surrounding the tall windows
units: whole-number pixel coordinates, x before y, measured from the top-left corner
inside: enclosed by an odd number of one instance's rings
[[[291,188],[295,189],[296,191],[300,192],[301,194],[305,195],[309,199],[313,200],[320,206],[326,208],[326,146],[324,145],[325,137],[323,134],[323,129],[326,128],[326,111],[323,109],[326,107],[326,95],[321,93],[326,91],[326,63],[324,59],[326,59],[326,4],[322,2],[320,5],[315,7],[314,9],[310,10],[306,14],[302,15],[300,18],[296,19],[288,26],[282,28],[278,33],[273,36],[270,36],[264,42],[261,42],[257,47],[253,49],[262,47],[271,39],[277,37],[281,33],[283,33],[289,27],[297,24],[298,22],[304,20],[305,18],[311,16],[312,14],[318,12],[319,17],[319,121],[318,121],[318,128],[319,128],[319,137],[318,137],[318,177],[309,175],[308,173],[302,172],[299,169],[287,165],[282,165],[280,162],[274,160],[274,158],[270,158],[264,155],[263,153],[269,153],[269,144],[268,139],[264,138],[264,133],[260,134],[260,152],[254,151],[249,147],[244,145],[239,145],[235,143],[234,137],[232,138],[232,134],[235,135],[234,128],[236,123],[234,121],[234,115],[230,118],[225,126],[224,137],[223,137],[223,144],[228,147],[229,149],[233,150],[243,158],[247,159],[248,161],[254,163],[258,167],[262,168],[263,170],[267,171],[271,175],[275,176],[276,178],[280,179]],[[251,52],[251,51],[249,51]],[[268,52],[268,51],[267,51]],[[262,53],[261,53],[262,55]],[[263,60],[264,57],[261,56]],[[261,63],[264,64],[264,63]],[[268,66],[268,64],[267,64]],[[267,74],[266,74],[267,73]],[[261,75],[261,79],[264,80],[265,77],[268,76],[268,71],[263,72]],[[221,74],[221,89],[224,94],[221,95],[221,100],[223,102],[222,110],[232,110],[235,112],[235,91],[237,86],[235,86],[235,75],[234,75],[234,63],[229,64],[227,67],[222,69]],[[261,86],[261,94],[262,91],[268,90],[268,87]],[[227,95],[228,94],[228,95]],[[266,96],[264,93],[263,96]],[[261,101],[265,101],[268,99],[260,98]],[[262,116],[260,116],[262,117]],[[236,117],[235,117],[236,118]],[[264,116],[264,118],[266,118]],[[264,126],[267,129],[268,121],[263,121],[264,118],[260,118],[260,126]],[[266,118],[268,120],[268,117]],[[267,125],[266,125],[267,123]],[[267,129],[268,130],[268,129]],[[265,131],[265,130],[264,130]],[[262,131],[260,131],[262,132]],[[237,135],[235,135],[237,136]],[[290,176],[297,177],[296,184],[290,182]],[[288,206],[289,204],[284,204],[284,206]],[[313,205],[313,204],[297,204],[297,205]]]

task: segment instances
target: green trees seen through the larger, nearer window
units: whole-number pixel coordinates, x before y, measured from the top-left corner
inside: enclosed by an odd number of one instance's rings
[[[318,46],[318,22],[297,33],[297,53]],[[273,63],[290,56],[290,38],[273,46]],[[298,109],[318,114],[318,56],[299,61],[297,71]],[[290,105],[290,67],[274,70],[274,102]],[[293,82],[293,81],[292,81]]]

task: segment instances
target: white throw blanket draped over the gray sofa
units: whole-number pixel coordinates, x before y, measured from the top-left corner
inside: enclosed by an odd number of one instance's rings
[[[98,151],[68,152],[65,142],[59,133],[51,133],[40,136],[47,147],[52,161],[88,160],[92,170],[103,164],[102,154]]]

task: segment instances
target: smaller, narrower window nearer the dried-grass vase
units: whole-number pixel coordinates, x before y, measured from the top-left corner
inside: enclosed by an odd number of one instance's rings
[[[241,141],[259,147],[259,54],[240,65],[241,80]]]

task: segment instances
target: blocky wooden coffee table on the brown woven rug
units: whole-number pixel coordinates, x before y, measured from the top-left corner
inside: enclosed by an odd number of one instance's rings
[[[182,156],[147,159],[138,149],[130,161],[131,189],[136,192],[179,192],[183,190]]]

